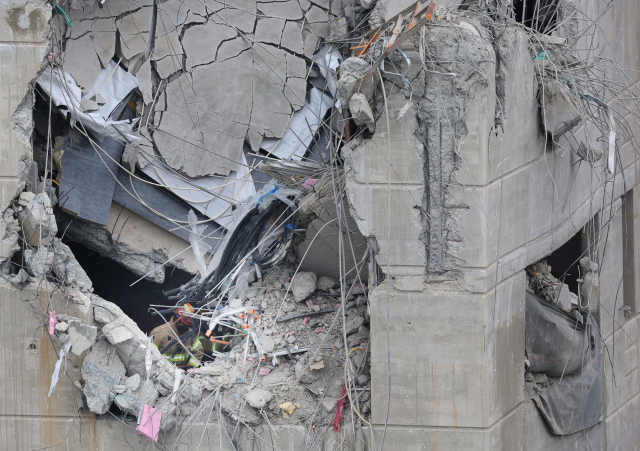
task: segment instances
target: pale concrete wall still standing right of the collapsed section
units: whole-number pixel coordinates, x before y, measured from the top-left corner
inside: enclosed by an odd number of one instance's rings
[[[593,6],[586,11],[595,13]],[[614,45],[605,53],[615,53],[620,65],[630,69],[638,63],[637,50],[630,49],[638,42],[638,27],[630,23],[637,12],[637,5],[627,2],[612,8],[604,21]],[[424,152],[416,135],[406,130],[411,119],[396,119],[403,96],[389,99],[390,249],[384,117],[372,141],[357,158],[349,157],[352,162],[347,160],[354,174],[348,185],[354,216],[360,218],[362,233],[378,240],[383,271],[391,259],[389,296],[385,285],[371,294],[376,443],[389,404],[385,449],[617,450],[631,449],[629,439],[637,449],[638,155],[619,140],[621,164],[610,175],[580,161],[566,140],[553,145],[541,132],[535,69],[523,36],[497,53],[504,98],[469,99],[458,183],[447,199],[461,210],[462,283],[439,282],[437,275],[425,272],[419,220],[425,174],[416,170]],[[496,84],[489,82],[486,89]],[[501,130],[494,127],[496,109],[504,112]],[[637,126],[631,116],[627,119],[635,133]],[[574,133],[584,136],[582,129]],[[595,141],[597,135],[591,137],[592,145],[603,146]],[[523,397],[523,270],[594,217],[601,231],[601,327],[611,353],[611,363],[605,356],[605,421],[585,432],[553,436]],[[625,305],[631,307],[630,317],[621,309]]]

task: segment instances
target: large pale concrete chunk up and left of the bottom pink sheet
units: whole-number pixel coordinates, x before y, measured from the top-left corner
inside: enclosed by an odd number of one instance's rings
[[[82,378],[85,381],[83,393],[92,412],[102,415],[109,410],[115,396],[114,386],[125,375],[122,361],[114,346],[107,341],[96,343],[82,365]]]

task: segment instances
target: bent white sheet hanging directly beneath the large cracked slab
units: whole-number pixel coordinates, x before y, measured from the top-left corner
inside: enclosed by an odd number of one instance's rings
[[[143,172],[200,213],[225,227],[229,222],[232,205],[240,204],[255,194],[244,154],[242,163],[244,165],[240,172],[236,174],[232,171],[228,177],[179,177],[158,161],[152,161]]]

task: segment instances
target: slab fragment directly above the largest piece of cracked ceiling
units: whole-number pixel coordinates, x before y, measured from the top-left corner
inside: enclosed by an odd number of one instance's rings
[[[219,21],[209,20],[204,25],[195,25],[184,32],[182,45],[187,55],[188,71],[215,61],[220,44],[238,35],[235,28],[216,22]]]

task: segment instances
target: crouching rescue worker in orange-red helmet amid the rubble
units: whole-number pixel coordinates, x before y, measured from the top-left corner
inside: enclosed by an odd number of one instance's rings
[[[186,313],[186,314],[185,314]],[[179,307],[175,311],[175,315],[171,319],[161,326],[156,327],[151,331],[153,335],[153,345],[162,350],[176,337],[180,337],[190,331],[192,327],[192,318],[189,314],[193,313],[193,307],[191,304],[185,304]],[[189,349],[195,359],[184,349],[180,343],[176,343],[169,349],[163,352],[162,356],[168,361],[175,363],[176,366],[200,366],[205,354],[211,355],[213,349],[213,343],[211,343],[200,331],[197,331],[194,335],[182,340],[182,343]]]

